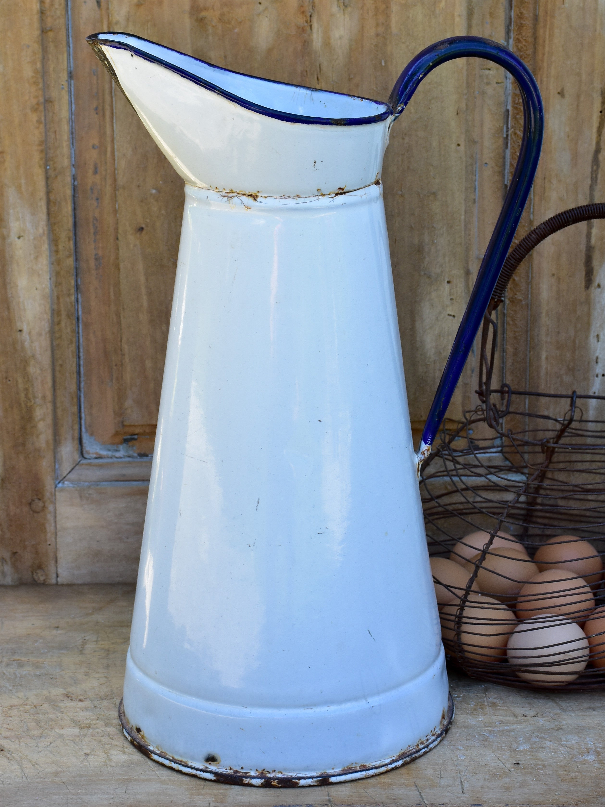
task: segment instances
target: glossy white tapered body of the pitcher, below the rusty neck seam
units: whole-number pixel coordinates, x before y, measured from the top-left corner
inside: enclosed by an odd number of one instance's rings
[[[415,475],[382,187],[257,201],[187,187],[131,725],[252,776],[330,776],[439,730]]]

